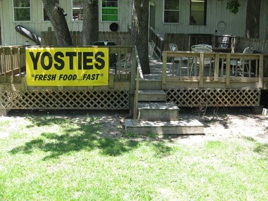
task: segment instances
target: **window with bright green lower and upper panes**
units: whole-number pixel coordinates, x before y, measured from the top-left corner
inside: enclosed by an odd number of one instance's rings
[[[118,22],[118,0],[102,0],[102,21]]]

